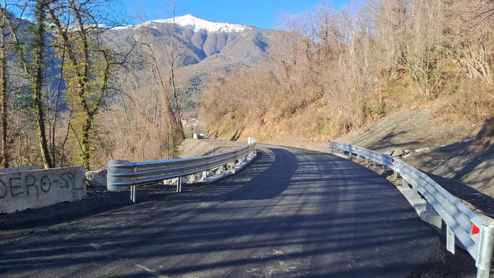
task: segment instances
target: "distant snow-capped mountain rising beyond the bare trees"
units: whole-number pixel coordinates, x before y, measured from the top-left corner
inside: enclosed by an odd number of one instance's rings
[[[265,57],[272,30],[249,25],[215,23],[194,15],[151,20],[136,26],[113,28],[116,43],[128,44],[146,36],[159,53],[170,42],[170,26],[175,23],[174,36],[182,51],[183,65],[196,65],[215,58],[231,65],[250,66]],[[163,52],[164,53],[164,52]],[[224,67],[222,67],[224,68]]]

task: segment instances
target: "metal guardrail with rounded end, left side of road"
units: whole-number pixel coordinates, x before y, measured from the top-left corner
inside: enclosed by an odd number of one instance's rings
[[[137,185],[178,177],[177,192],[181,192],[182,177],[202,172],[202,181],[207,182],[207,171],[213,168],[220,168],[221,177],[232,174],[236,171],[235,165],[242,167],[255,157],[255,146],[255,139],[249,138],[248,145],[243,148],[212,153],[208,156],[144,162],[109,160],[106,187],[108,191],[120,191],[130,187],[130,198],[132,203],[135,203]],[[225,169],[228,163],[233,163],[232,170]]]

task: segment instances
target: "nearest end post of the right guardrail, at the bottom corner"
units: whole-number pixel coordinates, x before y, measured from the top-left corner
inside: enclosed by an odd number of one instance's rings
[[[494,227],[482,224],[479,251],[475,260],[477,278],[488,278],[490,265],[493,260]]]

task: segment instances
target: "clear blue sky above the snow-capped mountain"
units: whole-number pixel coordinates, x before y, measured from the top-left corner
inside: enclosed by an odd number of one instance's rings
[[[127,15],[137,15],[144,11],[146,20],[170,18],[166,13],[166,0],[123,0]],[[355,1],[333,0],[333,8],[348,6]],[[199,18],[215,22],[239,23],[271,29],[276,27],[280,14],[296,14],[321,4],[321,0],[177,0],[177,15],[193,14]],[[144,16],[141,15],[140,18]],[[139,20],[131,20],[132,24]]]

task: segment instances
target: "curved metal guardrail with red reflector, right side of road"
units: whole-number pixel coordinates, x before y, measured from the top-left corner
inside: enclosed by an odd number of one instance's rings
[[[341,153],[335,153],[335,150]],[[412,187],[414,198],[423,198],[426,201],[425,211],[420,210],[422,220],[432,222],[441,227],[442,221],[446,225],[446,247],[451,253],[455,253],[455,237],[462,247],[468,251],[475,260],[477,277],[489,277],[490,265],[493,259],[494,227],[489,225],[479,215],[464,206],[455,196],[443,189],[423,172],[413,168],[400,158],[378,153],[360,146],[328,142],[330,153],[352,158],[365,158],[372,160],[374,165],[379,163],[383,167],[391,168],[395,177],[403,178],[403,188]],[[345,152],[348,156],[345,156]],[[436,217],[441,217],[438,222]]]

